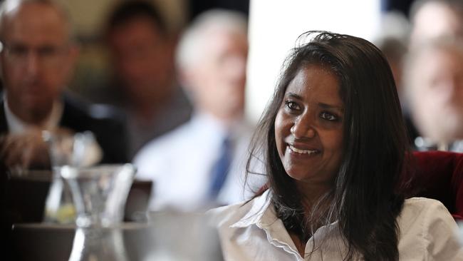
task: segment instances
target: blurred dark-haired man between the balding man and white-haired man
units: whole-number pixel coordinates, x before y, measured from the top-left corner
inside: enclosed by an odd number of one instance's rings
[[[175,37],[155,6],[123,1],[105,33],[114,67],[103,97],[128,115],[130,158],[148,141],[188,121],[191,105],[175,81]]]

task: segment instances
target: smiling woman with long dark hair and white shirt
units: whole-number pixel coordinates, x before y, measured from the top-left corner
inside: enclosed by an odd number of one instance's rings
[[[269,188],[211,212],[226,260],[463,260],[444,205],[405,200],[410,153],[383,54],[348,35],[306,39],[251,147]]]

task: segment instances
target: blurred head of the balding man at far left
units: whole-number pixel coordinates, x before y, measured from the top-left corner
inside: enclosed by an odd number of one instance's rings
[[[51,0],[6,0],[0,21],[6,102],[22,121],[41,124],[61,97],[77,56],[67,15]]]

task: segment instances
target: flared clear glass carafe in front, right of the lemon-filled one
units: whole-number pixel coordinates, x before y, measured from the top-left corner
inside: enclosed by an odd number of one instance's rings
[[[135,175],[130,164],[58,168],[76,207],[76,235],[70,261],[126,261],[123,234],[125,200]]]

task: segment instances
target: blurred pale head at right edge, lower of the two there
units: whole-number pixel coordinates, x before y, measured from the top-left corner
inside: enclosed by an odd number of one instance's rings
[[[463,45],[435,39],[405,62],[405,93],[420,150],[463,152]]]

